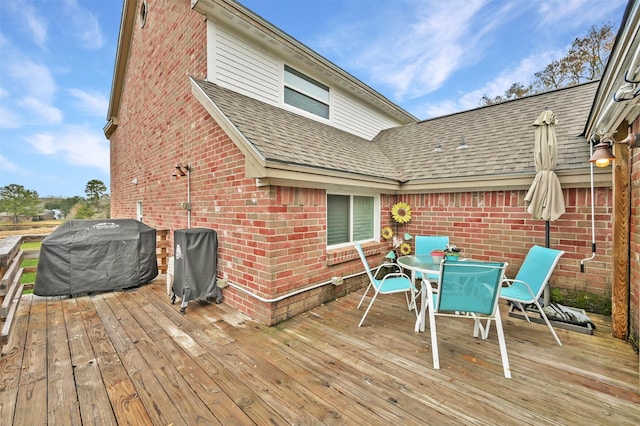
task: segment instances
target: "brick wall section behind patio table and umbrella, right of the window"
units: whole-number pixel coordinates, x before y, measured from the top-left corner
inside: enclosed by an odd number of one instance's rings
[[[566,213],[550,222],[549,246],[564,250],[551,277],[559,288],[611,295],[611,189],[595,191],[596,257],[592,254],[590,189],[563,190]],[[389,196],[389,208],[405,201],[412,208],[412,220],[399,230],[412,235],[448,235],[463,254],[479,260],[509,262],[507,273],[515,275],[533,244],[545,245],[545,222],[527,213],[526,191],[463,192]],[[388,215],[390,217],[390,213]],[[394,226],[391,221],[387,225]]]

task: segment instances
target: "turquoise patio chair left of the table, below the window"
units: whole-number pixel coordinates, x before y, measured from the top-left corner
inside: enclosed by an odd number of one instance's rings
[[[413,285],[413,282],[411,281],[411,278],[409,278],[409,276],[405,273],[403,273],[402,271],[399,272],[390,272],[385,274],[384,277],[382,278],[376,278],[378,276],[378,272],[380,271],[380,268],[383,267],[387,267],[389,266],[389,264],[381,264],[380,266],[378,266],[375,269],[371,269],[369,267],[369,262],[367,262],[367,258],[364,255],[364,251],[362,250],[362,246],[360,245],[359,242],[356,241],[355,243],[355,248],[358,251],[358,254],[360,255],[360,260],[362,260],[362,264],[364,265],[364,269],[367,272],[367,276],[369,277],[369,285],[367,286],[367,289],[365,290],[364,294],[362,295],[362,299],[360,299],[360,303],[358,303],[358,309],[360,309],[360,306],[362,305],[362,302],[364,301],[365,297],[367,296],[367,294],[369,293],[369,289],[373,289],[373,296],[371,297],[371,301],[369,302],[369,306],[367,306],[367,310],[365,311],[364,315],[362,316],[362,319],[360,320],[360,323],[358,324],[358,327],[362,327],[362,323],[364,322],[364,319],[366,318],[367,314],[369,313],[369,310],[371,309],[371,306],[373,305],[373,302],[376,300],[376,297],[378,296],[378,294],[393,294],[393,293],[405,293],[405,299],[407,301],[407,309],[408,310],[415,310],[416,311],[416,316],[417,316],[417,309],[415,309],[416,306],[416,288]],[[396,267],[398,267],[397,265],[395,265]],[[398,267],[399,269],[399,267]]]

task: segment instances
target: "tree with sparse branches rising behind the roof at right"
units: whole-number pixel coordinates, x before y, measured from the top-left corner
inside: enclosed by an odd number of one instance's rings
[[[479,105],[493,105],[527,95],[597,80],[604,72],[614,41],[615,35],[611,25],[600,27],[592,25],[586,36],[576,38],[573,41],[563,58],[551,62],[541,71],[536,72],[533,83],[528,86],[514,83],[504,96],[498,95],[491,98],[485,94],[480,99]]]

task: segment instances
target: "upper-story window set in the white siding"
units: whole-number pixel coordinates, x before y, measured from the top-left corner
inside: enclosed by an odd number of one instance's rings
[[[284,66],[284,102],[323,118],[329,118],[329,86]]]

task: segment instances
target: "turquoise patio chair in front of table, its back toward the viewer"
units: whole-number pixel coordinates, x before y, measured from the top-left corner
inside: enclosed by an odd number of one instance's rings
[[[500,287],[507,264],[502,262],[442,262],[438,291],[426,286],[429,306],[429,329],[433,368],[440,368],[436,317],[456,317],[474,321],[473,337],[488,337],[489,325],[495,321],[504,376],[511,378],[507,345],[500,318]],[[486,320],[486,325],[482,321]]]

